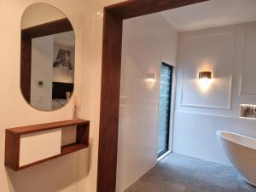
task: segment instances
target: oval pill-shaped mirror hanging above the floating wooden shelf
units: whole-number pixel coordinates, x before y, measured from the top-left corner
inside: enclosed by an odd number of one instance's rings
[[[62,108],[73,95],[75,35],[59,9],[29,6],[21,20],[20,89],[26,102],[43,111]]]

